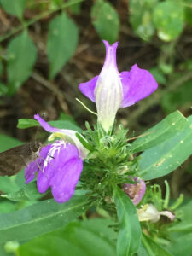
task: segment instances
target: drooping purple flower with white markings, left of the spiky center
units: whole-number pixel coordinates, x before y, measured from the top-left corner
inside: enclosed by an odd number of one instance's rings
[[[76,131],[51,127],[38,114],[34,118],[44,130],[53,132],[49,140],[61,137],[67,143],[58,140],[43,147],[38,159],[26,166],[26,183],[31,182],[38,172],[37,186],[40,193],[44,193],[50,187],[55,201],[68,201],[74,194],[83,169],[83,159],[88,150],[75,136]]]

